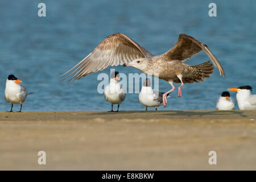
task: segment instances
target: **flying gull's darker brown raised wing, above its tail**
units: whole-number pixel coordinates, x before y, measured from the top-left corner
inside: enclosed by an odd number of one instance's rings
[[[213,64],[218,68],[220,75],[225,76],[225,72],[217,60],[217,58],[210,52],[209,47],[204,43],[201,43],[199,40],[192,38],[192,36],[180,34],[179,39],[177,40],[174,47],[172,47],[169,51],[164,53],[162,56],[166,57],[168,61],[179,60],[185,61],[190,57],[196,55],[201,50],[204,50],[205,53],[210,57]]]

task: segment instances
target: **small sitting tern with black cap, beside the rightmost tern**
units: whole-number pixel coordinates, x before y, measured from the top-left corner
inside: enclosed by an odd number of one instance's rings
[[[222,92],[216,103],[217,110],[234,110],[235,102],[229,92]]]

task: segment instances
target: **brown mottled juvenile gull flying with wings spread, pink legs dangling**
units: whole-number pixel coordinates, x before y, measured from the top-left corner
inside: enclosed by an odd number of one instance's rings
[[[132,66],[171,84],[172,89],[163,94],[163,104],[166,106],[167,94],[175,90],[174,82],[181,82],[179,86],[179,97],[181,97],[181,87],[184,83],[204,81],[205,77],[210,77],[210,74],[213,73],[213,67],[209,61],[192,66],[183,63],[201,50],[207,53],[220,75],[225,76],[221,64],[210,52],[208,46],[191,36],[180,34],[174,47],[162,55],[154,56],[122,33],[108,36],[80,63],[61,76],[69,73],[67,77],[72,77],[68,81],[74,81],[109,66],[119,64]]]

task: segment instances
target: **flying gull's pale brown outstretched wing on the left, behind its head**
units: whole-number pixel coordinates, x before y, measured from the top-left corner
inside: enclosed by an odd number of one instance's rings
[[[89,53],[79,64],[61,76],[72,76],[68,81],[79,80],[79,78],[90,73],[101,71],[110,65],[129,63],[134,59],[152,57],[153,55],[138,43],[131,40],[122,33],[108,36]],[[72,73],[70,73],[72,71]],[[66,77],[66,78],[67,78]]]

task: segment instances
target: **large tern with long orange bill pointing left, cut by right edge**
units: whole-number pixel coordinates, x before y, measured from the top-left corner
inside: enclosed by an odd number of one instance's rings
[[[251,86],[228,89],[237,92],[237,104],[240,110],[256,110],[256,95],[251,94]]]

